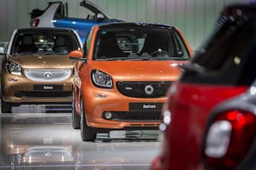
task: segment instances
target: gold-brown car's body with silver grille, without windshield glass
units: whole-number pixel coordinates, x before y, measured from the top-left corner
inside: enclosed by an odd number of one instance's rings
[[[76,37],[77,47],[82,43],[76,31],[59,28],[24,28],[24,30],[57,30],[68,31]],[[11,37],[14,40],[15,30]],[[2,62],[2,102],[11,105],[20,104],[52,104],[72,103],[73,98],[73,68],[74,61],[65,55],[16,54],[11,55],[8,47],[6,57]],[[8,65],[15,63],[21,66],[21,74],[11,74]]]

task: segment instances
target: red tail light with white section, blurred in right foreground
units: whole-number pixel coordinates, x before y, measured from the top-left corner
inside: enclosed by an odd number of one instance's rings
[[[203,159],[217,169],[232,169],[245,159],[256,133],[256,117],[248,111],[227,111],[215,117],[206,134]]]

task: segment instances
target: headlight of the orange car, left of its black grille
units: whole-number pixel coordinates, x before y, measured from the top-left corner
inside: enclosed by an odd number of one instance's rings
[[[92,83],[99,88],[113,88],[111,76],[99,70],[92,70]]]

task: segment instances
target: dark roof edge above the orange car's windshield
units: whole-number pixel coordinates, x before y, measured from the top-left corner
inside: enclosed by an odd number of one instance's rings
[[[148,27],[148,28],[162,28],[162,29],[173,29],[176,27],[168,24],[152,24],[152,23],[143,23],[143,22],[117,22],[117,23],[107,23],[99,24],[99,29],[104,28],[122,28],[122,27]]]

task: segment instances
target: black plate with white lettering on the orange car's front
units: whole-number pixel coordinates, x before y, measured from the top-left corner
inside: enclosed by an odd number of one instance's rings
[[[130,103],[130,111],[161,111],[163,103]]]

